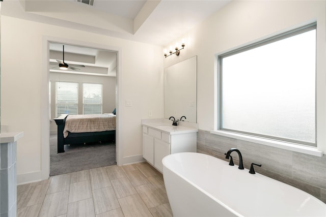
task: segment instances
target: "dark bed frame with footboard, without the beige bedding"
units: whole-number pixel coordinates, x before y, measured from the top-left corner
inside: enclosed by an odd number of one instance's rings
[[[65,138],[63,130],[65,128],[65,121],[68,114],[62,114],[60,117],[53,120],[56,121],[58,126],[58,152],[65,152],[64,146],[68,144],[80,144],[86,142],[102,142],[115,140],[116,131],[103,131],[103,132],[88,132],[88,133],[70,133]]]

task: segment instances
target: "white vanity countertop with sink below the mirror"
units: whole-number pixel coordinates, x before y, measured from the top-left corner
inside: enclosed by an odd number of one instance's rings
[[[197,123],[188,123],[179,121],[178,126],[173,126],[170,120],[166,119],[144,119],[142,126],[159,130],[168,134],[183,134],[183,133],[196,133],[198,132]]]

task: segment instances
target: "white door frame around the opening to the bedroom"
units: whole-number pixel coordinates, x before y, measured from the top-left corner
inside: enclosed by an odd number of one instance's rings
[[[121,165],[122,162],[122,147],[120,144],[120,127],[122,122],[122,112],[119,108],[122,108],[120,105],[122,96],[122,48],[105,45],[105,44],[95,44],[91,42],[71,40],[58,37],[44,36],[42,38],[42,80],[41,80],[41,179],[45,180],[49,178],[50,174],[50,150],[49,150],[49,43],[62,43],[62,44],[71,44],[75,46],[82,47],[91,47],[95,49],[102,49],[108,51],[114,51],[117,53],[117,75],[116,75],[116,161],[117,165]]]

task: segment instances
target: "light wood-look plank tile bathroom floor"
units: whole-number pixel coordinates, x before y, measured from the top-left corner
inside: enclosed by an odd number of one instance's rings
[[[17,216],[172,216],[163,175],[146,162],[17,186]]]

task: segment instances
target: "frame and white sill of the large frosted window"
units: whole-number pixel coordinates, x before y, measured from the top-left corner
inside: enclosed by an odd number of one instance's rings
[[[288,30],[287,32],[283,32],[281,34],[275,34],[274,36],[264,38],[263,40],[257,40],[253,43],[247,43],[244,46],[239,46],[234,49],[229,49],[225,52],[221,52],[218,54],[215,54],[215,121],[214,121],[214,130],[211,131],[213,134],[218,134],[222,136],[232,137],[236,139],[256,142],[264,145],[279,147],[279,148],[285,148],[289,150],[295,150],[299,152],[304,152],[308,154],[312,154],[315,156],[322,156],[322,151],[317,150],[317,66],[316,66],[316,72],[315,72],[315,146],[312,146],[311,144],[303,144],[302,142],[298,143],[297,141],[284,141],[280,140],[279,138],[267,138],[267,137],[261,137],[260,135],[253,135],[253,134],[243,134],[243,132],[236,132],[236,131],[226,131],[224,130],[222,126],[222,65],[221,65],[221,58],[231,56],[236,53],[240,53],[246,50],[250,50],[256,47],[260,47],[269,43],[273,43],[275,41],[279,41],[285,38],[289,38],[291,36],[295,36],[301,33],[308,32],[309,30],[316,29],[316,62],[318,59],[317,56],[317,48],[318,48],[318,41],[317,41],[317,23],[309,23],[307,25],[303,25],[298,28],[294,28],[291,30]]]

